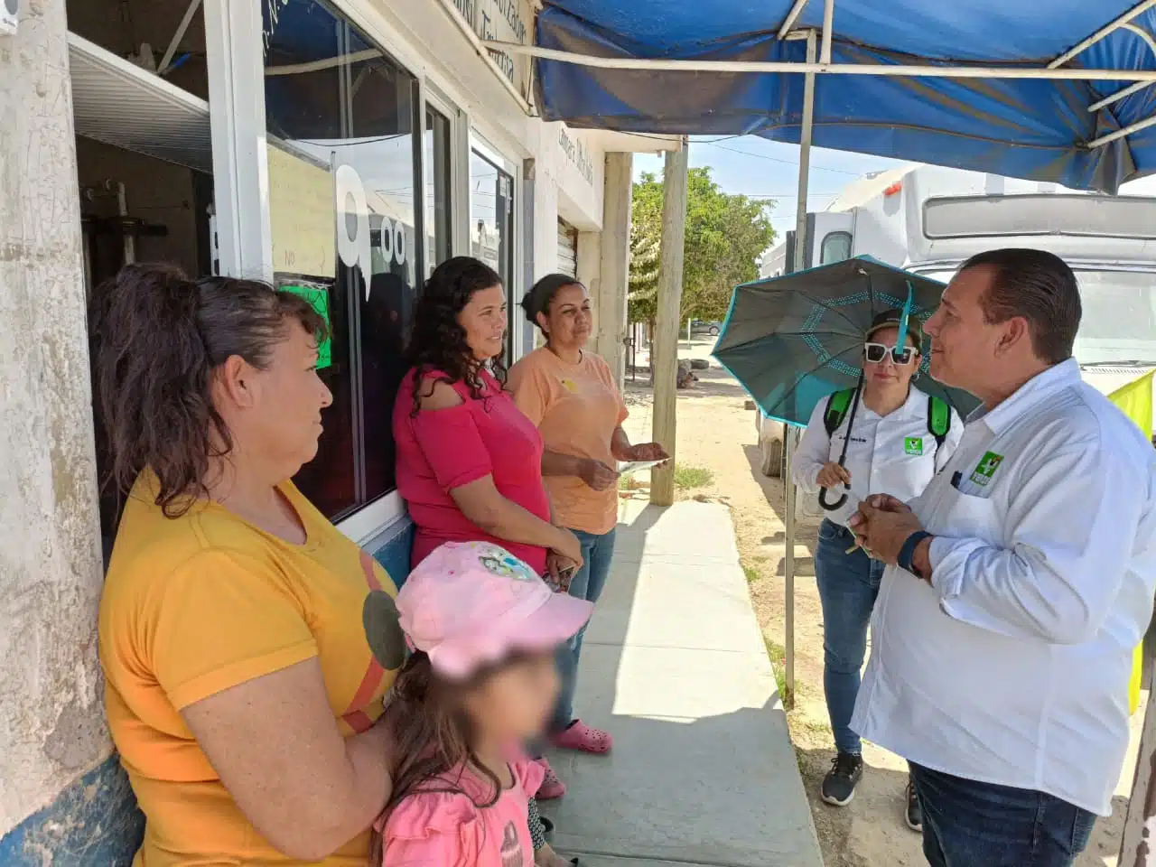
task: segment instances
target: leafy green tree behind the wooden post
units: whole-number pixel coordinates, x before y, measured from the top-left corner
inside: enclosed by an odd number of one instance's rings
[[[770,202],[724,193],[710,168],[690,170],[681,319],[721,319],[734,287],[758,276],[758,257],[775,239],[769,209]],[[661,236],[662,181],[645,172],[633,185],[631,321],[654,318]]]

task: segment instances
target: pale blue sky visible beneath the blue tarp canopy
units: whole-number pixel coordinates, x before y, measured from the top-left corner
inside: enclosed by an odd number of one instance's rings
[[[734,139],[697,136],[690,141],[690,164],[711,166],[711,177],[727,193],[743,193],[775,202],[771,222],[776,232],[794,228],[795,187],[799,183],[799,146],[743,135]],[[895,160],[815,148],[810,153],[809,210],[823,210],[860,175],[902,165]],[[662,176],[662,157],[635,155],[635,180],[644,171]]]

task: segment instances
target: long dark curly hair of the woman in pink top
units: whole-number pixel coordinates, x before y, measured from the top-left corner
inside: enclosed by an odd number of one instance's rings
[[[474,292],[502,286],[502,277],[494,268],[468,255],[446,259],[425,281],[417,305],[414,324],[406,347],[406,366],[414,370],[414,409],[421,406],[422,377],[440,371],[451,383],[465,383],[475,400],[482,399],[481,364],[466,343],[466,332],[458,324],[458,316]],[[497,356],[490,361],[490,371],[505,384],[505,361]]]

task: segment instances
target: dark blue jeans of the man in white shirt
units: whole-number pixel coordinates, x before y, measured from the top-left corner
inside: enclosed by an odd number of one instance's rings
[[[1043,792],[911,765],[932,867],[1070,867],[1096,816]]]

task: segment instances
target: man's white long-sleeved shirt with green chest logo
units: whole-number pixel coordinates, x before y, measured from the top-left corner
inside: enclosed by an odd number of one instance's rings
[[[912,507],[851,727],[904,758],[1111,814],[1156,592],[1156,450],[1065,362],[968,421]]]

